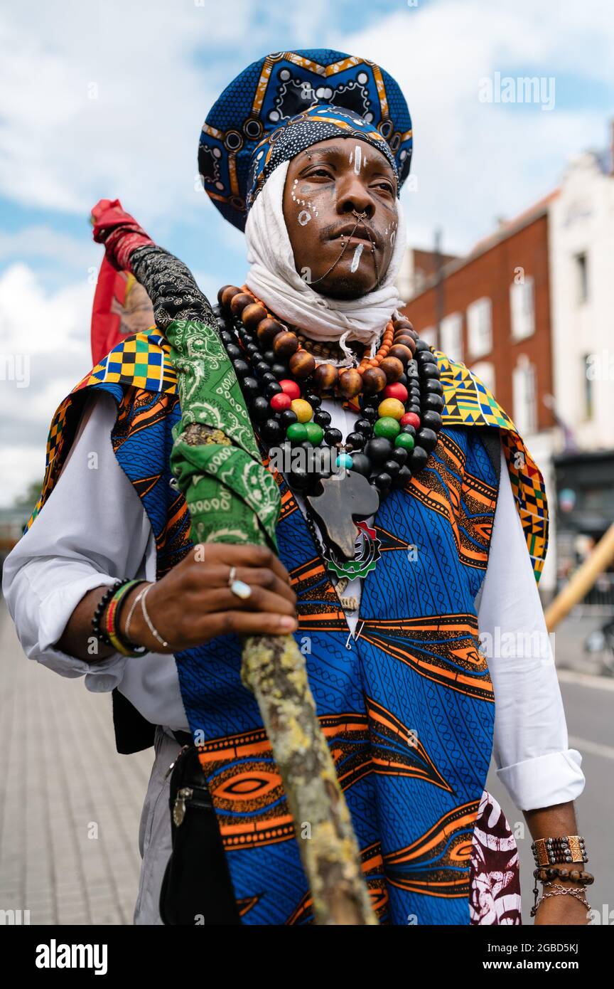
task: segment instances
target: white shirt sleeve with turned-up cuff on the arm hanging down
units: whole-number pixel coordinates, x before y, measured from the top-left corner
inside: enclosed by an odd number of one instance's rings
[[[486,578],[476,598],[495,690],[494,757],[520,810],[575,800],[581,756],[568,729],[550,637],[501,448],[499,498]]]

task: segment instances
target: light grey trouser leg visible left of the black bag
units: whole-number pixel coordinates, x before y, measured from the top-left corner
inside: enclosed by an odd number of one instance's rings
[[[171,855],[171,812],[169,787],[171,774],[165,775],[175,762],[181,746],[168,728],[156,728],[155,760],[149,777],[145,803],[138,830],[138,850],[143,860],[134,907],[134,923],[162,924],[160,919],[160,888]]]

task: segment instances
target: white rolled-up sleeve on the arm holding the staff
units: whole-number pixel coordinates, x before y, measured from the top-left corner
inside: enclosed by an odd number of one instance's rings
[[[95,692],[114,689],[127,658],[115,653],[89,663],[58,650],[72,612],[93,587],[155,579],[147,573],[151,526],[111,443],[115,415],[111,395],[88,399],[55,488],[7,557],[2,582],[28,658],[63,676],[85,676]]]

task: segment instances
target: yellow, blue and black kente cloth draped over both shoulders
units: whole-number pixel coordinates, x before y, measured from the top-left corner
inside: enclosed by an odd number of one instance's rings
[[[432,348],[431,348],[432,349]],[[131,385],[144,391],[177,395],[177,373],[168,357],[170,347],[155,326],[121,340],[75,386],[55,411],[47,438],[45,473],[37,505],[26,524],[30,528],[38,510],[59,476],[58,456],[62,429],[72,397],[97,384]],[[548,502],[541,471],[505,411],[486,385],[457,361],[433,350],[441,372],[445,406],[443,426],[494,426],[499,428],[516,508],[522,523],[535,580],[539,581],[548,548]]]

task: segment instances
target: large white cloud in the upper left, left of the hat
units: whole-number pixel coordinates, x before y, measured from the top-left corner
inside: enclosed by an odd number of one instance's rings
[[[33,24],[14,6],[0,21],[0,191],[72,213],[103,195],[146,217],[186,209],[216,95],[196,54],[230,45],[248,8],[62,0],[37,4]]]

